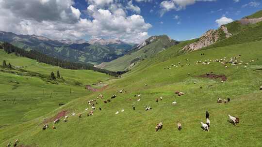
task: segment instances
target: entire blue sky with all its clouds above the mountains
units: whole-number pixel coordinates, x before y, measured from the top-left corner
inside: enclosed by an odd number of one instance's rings
[[[0,30],[51,39],[139,43],[197,38],[262,9],[262,0],[0,0]]]

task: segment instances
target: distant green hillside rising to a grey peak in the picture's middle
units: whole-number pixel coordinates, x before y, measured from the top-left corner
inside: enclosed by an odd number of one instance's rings
[[[156,36],[156,38],[155,41],[140,49],[135,49],[123,57],[117,58],[111,62],[104,62],[97,67],[111,71],[128,70],[131,68],[130,66],[134,66],[138,61],[157,55],[166,48],[178,44],[176,41],[170,41],[166,35]],[[151,40],[151,38],[147,40]]]

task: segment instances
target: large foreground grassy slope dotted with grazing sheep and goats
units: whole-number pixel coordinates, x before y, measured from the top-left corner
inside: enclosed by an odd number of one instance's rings
[[[94,116],[86,117],[84,114],[81,119],[69,117],[68,122],[56,124],[56,130],[49,128],[42,131],[43,118],[50,118],[62,110],[84,112],[88,106],[83,102],[97,97],[98,92],[72,101],[31,122],[2,129],[1,145],[18,138],[20,144],[38,147],[243,147],[246,143],[248,147],[260,147],[262,91],[259,86],[262,85],[262,71],[253,70],[262,68],[261,46],[260,41],[218,47],[148,64],[141,70],[136,70],[140,68],[137,66],[102,92],[106,99],[121,88],[127,90],[127,93],[117,94],[117,98],[108,104],[98,100],[96,107],[101,107],[102,111],[96,110]],[[205,53],[205,56],[200,56],[200,53]],[[229,59],[239,54],[242,55],[240,60],[248,62],[254,59],[255,62],[247,65],[246,69],[244,65],[228,65],[225,68],[218,62],[211,62],[210,65],[195,64],[200,59]],[[164,67],[179,61],[190,66],[164,70]],[[227,75],[228,80],[221,83],[219,79],[197,77],[211,71]],[[183,91],[185,95],[176,96],[176,90]],[[142,98],[137,102],[133,95],[139,93],[142,93]],[[164,100],[156,103],[155,98],[160,96]],[[231,102],[218,104],[218,97],[230,97]],[[133,100],[129,101],[130,98]],[[173,101],[178,104],[172,106]],[[135,111],[131,108],[132,104],[136,106]],[[145,105],[153,109],[144,111]],[[121,109],[125,111],[115,115]],[[205,122],[206,110],[211,114],[210,132],[203,132],[200,128],[200,121]],[[238,116],[240,123],[236,126],[229,124],[228,114]],[[160,120],[164,121],[164,127],[155,132],[154,127]],[[177,121],[182,123],[182,132],[176,129]]]

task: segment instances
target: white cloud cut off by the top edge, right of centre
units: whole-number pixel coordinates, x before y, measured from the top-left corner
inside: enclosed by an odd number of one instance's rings
[[[216,0],[164,0],[160,3],[160,15],[163,16],[170,10],[180,11],[187,5],[192,5],[197,1],[216,1]]]

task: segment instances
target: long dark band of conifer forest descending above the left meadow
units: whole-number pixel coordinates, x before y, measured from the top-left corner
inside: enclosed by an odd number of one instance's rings
[[[119,77],[121,74],[128,72],[128,71],[113,72],[113,71],[108,71],[108,70],[105,70],[105,69],[96,68],[93,65],[69,62],[69,61],[66,61],[66,60],[49,57],[49,56],[47,56],[43,53],[40,53],[38,51],[35,51],[35,50],[26,51],[24,49],[21,49],[19,47],[12,45],[12,44],[9,44],[7,42],[3,43],[1,46],[3,47],[4,51],[8,54],[15,53],[16,56],[22,56],[22,57],[27,57],[27,58],[30,58],[30,59],[35,59],[38,62],[47,63],[47,64],[50,64],[50,65],[53,65],[53,66],[59,66],[59,67],[64,68],[64,69],[93,70],[93,71],[97,71],[97,72],[100,72],[100,73],[106,73],[106,74],[109,74],[109,75],[115,76],[115,77]]]

